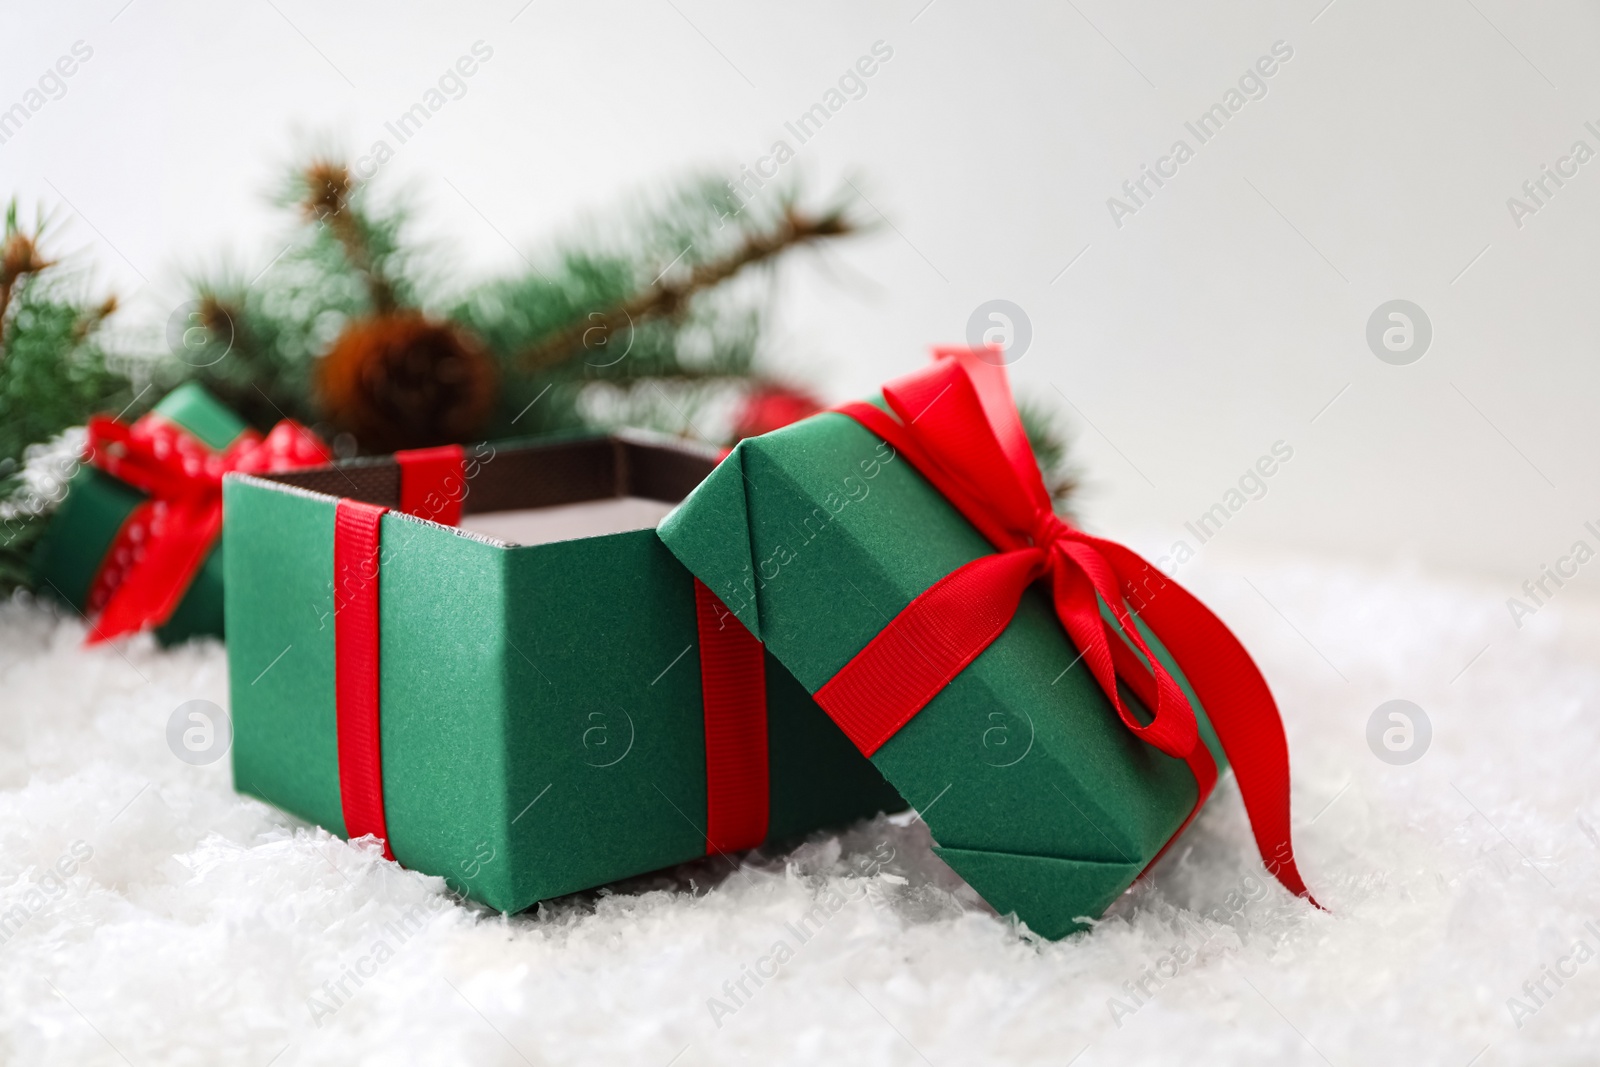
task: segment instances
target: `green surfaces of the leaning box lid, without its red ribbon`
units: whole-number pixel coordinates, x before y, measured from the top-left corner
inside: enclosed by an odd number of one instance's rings
[[[744,440],[659,533],[813,693],[912,598],[994,552],[906,459],[842,414]],[[1048,937],[1101,915],[1197,795],[1181,760],[1118,721],[1038,587],[872,761],[925,809],[939,856]]]

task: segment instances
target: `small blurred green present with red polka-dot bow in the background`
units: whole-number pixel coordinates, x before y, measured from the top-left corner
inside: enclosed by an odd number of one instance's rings
[[[88,640],[154,629],[163,645],[222,635],[222,474],[325,464],[283,421],[267,437],[197,382],[133,426],[94,418],[85,462],[40,537],[34,584],[77,608]]]

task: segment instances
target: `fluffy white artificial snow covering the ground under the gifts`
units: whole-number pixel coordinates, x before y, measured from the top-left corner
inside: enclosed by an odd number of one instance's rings
[[[1306,561],[1179,577],[1283,704],[1328,913],[1267,883],[1229,779],[1059,944],[989,913],[909,819],[502,918],[174,758],[173,709],[226,705],[221,646],[83,651],[77,622],[3,606],[0,913],[26,921],[0,1062],[1597,1062],[1600,616],[1557,601],[1518,630],[1512,589]],[[1366,741],[1395,697],[1432,725],[1400,766]],[[800,944],[786,925],[830,894]]]

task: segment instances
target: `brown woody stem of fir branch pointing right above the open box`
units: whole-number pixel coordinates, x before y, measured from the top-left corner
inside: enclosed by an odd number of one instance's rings
[[[696,264],[682,278],[656,280],[650,288],[598,312],[600,322],[595,322],[594,315],[573,320],[525,349],[515,357],[515,363],[523,371],[554,366],[581,349],[584,339],[594,331],[610,338],[613,331],[637,326],[643,320],[669,318],[678,314],[696,293],[717,288],[752,264],[770,261],[797,245],[854,232],[856,224],[845,218],[843,211],[835,210],[811,218],[787,208],[774,229],[749,234],[728,256]]]

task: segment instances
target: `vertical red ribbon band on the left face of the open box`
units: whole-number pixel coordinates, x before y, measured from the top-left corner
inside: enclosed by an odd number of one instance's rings
[[[387,507],[341,499],[333,518],[334,701],[344,835],[371,833],[389,851],[378,721],[378,563]]]

